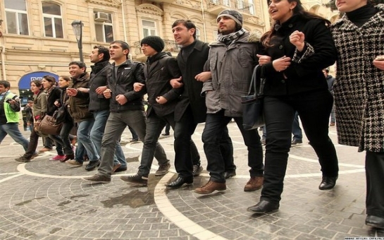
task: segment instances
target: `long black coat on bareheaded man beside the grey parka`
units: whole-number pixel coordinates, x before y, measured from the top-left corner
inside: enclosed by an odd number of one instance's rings
[[[201,96],[203,83],[197,81],[194,77],[203,71],[208,54],[208,44],[199,40],[196,40],[194,49],[186,62],[181,57],[182,49],[178,54],[177,60],[182,74],[182,83],[184,83],[184,92],[180,97],[180,102],[175,107],[175,121],[180,121],[188,105],[192,108],[196,124],[202,123],[206,119],[205,100]]]

